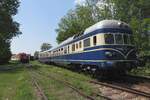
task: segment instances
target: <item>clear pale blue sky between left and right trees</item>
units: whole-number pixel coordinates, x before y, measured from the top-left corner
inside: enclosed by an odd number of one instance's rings
[[[14,19],[20,23],[22,35],[12,40],[12,53],[33,54],[43,42],[56,46],[55,29],[60,19],[82,0],[21,0]]]

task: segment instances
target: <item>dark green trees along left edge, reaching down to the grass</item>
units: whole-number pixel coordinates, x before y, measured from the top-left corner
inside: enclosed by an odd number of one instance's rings
[[[0,0],[0,64],[10,60],[11,39],[21,34],[19,23],[13,20],[18,7],[19,0]]]

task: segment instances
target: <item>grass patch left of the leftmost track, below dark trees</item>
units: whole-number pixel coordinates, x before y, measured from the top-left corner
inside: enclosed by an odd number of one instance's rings
[[[0,66],[0,100],[36,100],[24,66],[9,63]]]

